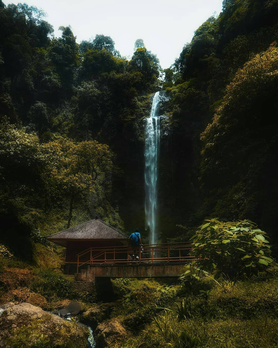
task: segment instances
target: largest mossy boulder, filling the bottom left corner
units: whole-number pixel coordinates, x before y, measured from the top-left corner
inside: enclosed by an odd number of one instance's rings
[[[87,327],[63,320],[30,303],[7,308],[0,316],[0,347],[86,347]]]

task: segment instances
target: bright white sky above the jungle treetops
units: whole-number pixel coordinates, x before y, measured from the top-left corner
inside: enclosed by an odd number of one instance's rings
[[[3,1],[6,5],[13,1]],[[219,14],[222,0],[22,0],[42,8],[60,36],[59,26],[71,25],[76,41],[109,35],[122,56],[131,57],[134,42],[143,39],[163,69],[179,57],[194,30]]]

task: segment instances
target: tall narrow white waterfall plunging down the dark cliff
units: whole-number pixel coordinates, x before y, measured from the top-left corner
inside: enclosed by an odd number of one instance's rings
[[[156,243],[157,176],[160,144],[160,117],[157,105],[161,101],[160,92],[153,99],[150,117],[145,126],[145,229],[150,229],[150,244]]]

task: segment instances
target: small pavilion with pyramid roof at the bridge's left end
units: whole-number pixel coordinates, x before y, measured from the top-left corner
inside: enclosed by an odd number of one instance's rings
[[[128,245],[128,237],[107,225],[102,220],[96,219],[84,222],[80,225],[57,232],[47,239],[50,242],[62,245],[66,248],[65,268],[66,274],[76,272],[77,254],[89,248],[102,248],[111,246]],[[88,255],[87,255],[88,256]],[[88,264],[84,264],[85,268]]]

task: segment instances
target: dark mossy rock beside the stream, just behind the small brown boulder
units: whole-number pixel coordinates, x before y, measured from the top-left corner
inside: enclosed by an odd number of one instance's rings
[[[89,308],[82,315],[80,320],[95,329],[99,323],[102,323],[109,318],[112,309],[114,308],[114,302],[102,303],[99,306]]]

